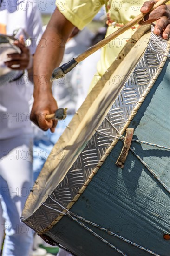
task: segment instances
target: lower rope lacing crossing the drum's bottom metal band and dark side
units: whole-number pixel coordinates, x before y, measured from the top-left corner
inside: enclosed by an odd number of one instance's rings
[[[82,226],[83,228],[85,228],[86,230],[88,230],[90,233],[92,233],[94,236],[98,237],[102,242],[104,242],[105,244],[107,244],[108,246],[110,246],[111,248],[115,249],[118,253],[120,253],[121,255],[124,255],[124,256],[127,256],[126,254],[124,254],[120,249],[118,249],[117,247],[115,247],[113,244],[109,243],[107,240],[105,240],[103,237],[99,236],[97,233],[95,233],[92,229],[90,229],[89,227],[87,227],[85,224],[83,224],[82,222],[80,222],[79,220],[83,221],[83,222],[86,222],[90,225],[92,225],[93,227],[97,227],[98,229],[102,230],[102,231],[105,231],[106,233],[108,233],[109,235],[111,236],[115,236],[121,240],[123,240],[124,242],[126,243],[130,243],[131,245],[137,247],[138,249],[141,249],[141,250],[144,250],[152,255],[155,255],[155,256],[160,256],[159,254],[149,250],[149,249],[146,249],[144,248],[143,246],[141,245],[138,245],[137,243],[133,243],[132,241],[124,238],[123,236],[119,236],[117,234],[115,234],[114,232],[106,229],[106,228],[103,228],[102,226],[94,223],[94,222],[91,222],[91,221],[88,221],[86,220],[85,218],[81,217],[81,216],[78,216],[77,214],[73,213],[73,212],[70,212],[67,208],[65,208],[64,206],[62,206],[59,202],[57,202],[56,200],[54,200],[52,198],[52,196],[48,196],[50,199],[52,199],[53,202],[55,202],[56,204],[58,204],[60,207],[62,207],[65,211],[65,212],[61,212],[57,209],[54,209],[48,205],[46,205],[45,203],[42,203],[42,205],[44,205],[45,207],[49,208],[49,209],[52,209],[54,211],[57,211],[57,212],[60,212],[61,214],[63,215],[67,215],[69,216],[73,221],[77,222],[80,226]]]

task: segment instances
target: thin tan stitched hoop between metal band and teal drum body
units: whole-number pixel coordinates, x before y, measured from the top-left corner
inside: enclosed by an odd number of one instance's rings
[[[167,43],[167,48],[166,51],[170,51],[170,40]],[[140,102],[137,103],[137,106],[133,109],[130,117],[128,118],[128,120],[126,121],[124,127],[121,129],[120,134],[123,135],[124,131],[126,130],[126,128],[130,125],[132,119],[134,118],[134,116],[137,114],[137,111],[139,110],[139,108],[141,107],[142,103],[144,102],[144,99],[146,98],[146,96],[149,94],[151,88],[153,87],[158,75],[161,73],[162,68],[167,60],[168,56],[165,56],[159,66],[159,68],[157,69],[156,74],[154,75],[154,77],[152,77],[145,93],[142,96],[142,99]],[[107,151],[105,152],[105,154],[103,155],[103,157],[100,159],[100,162],[98,163],[98,166],[96,168],[93,169],[92,174],[88,177],[88,179],[86,180],[86,182],[84,183],[84,185],[82,186],[82,188],[78,191],[77,195],[75,195],[75,197],[72,199],[72,201],[66,206],[67,209],[70,209],[72,207],[72,205],[78,200],[78,198],[80,197],[80,195],[84,192],[84,190],[86,189],[86,187],[88,186],[88,184],[90,183],[90,181],[92,180],[92,178],[95,176],[95,174],[98,172],[98,169],[102,166],[103,162],[105,162],[105,159],[107,158],[107,156],[109,155],[109,153],[111,152],[111,150],[115,147],[115,145],[117,144],[118,139],[115,139],[111,145],[109,146],[109,148],[107,149]],[[55,220],[52,221],[52,223],[50,225],[48,225],[45,229],[37,232],[39,235],[44,234],[45,232],[47,232],[49,229],[52,229],[53,226],[59,222],[59,220],[65,215],[66,210],[63,210],[63,213],[61,213],[59,216],[57,216],[57,218]],[[26,222],[26,220],[22,220],[23,222]]]

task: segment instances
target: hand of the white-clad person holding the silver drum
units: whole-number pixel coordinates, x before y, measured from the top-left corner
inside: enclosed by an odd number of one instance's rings
[[[20,36],[19,40],[14,42],[16,46],[21,49],[21,53],[8,54],[10,61],[6,61],[7,67],[15,70],[24,70],[28,67],[30,61],[30,51],[29,48],[25,46],[24,37]]]

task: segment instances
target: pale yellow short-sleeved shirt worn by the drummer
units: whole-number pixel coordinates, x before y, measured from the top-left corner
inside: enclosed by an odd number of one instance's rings
[[[107,11],[111,20],[116,23],[125,24],[140,13],[140,9],[145,1],[146,0],[57,0],[56,6],[74,26],[83,29],[92,21],[103,5],[107,6],[109,3],[110,8]],[[106,36],[117,29],[118,27],[108,27]],[[134,30],[129,29],[102,48],[101,60],[98,62],[97,66],[97,75],[102,76],[105,73],[126,44],[126,40],[130,39],[133,34]]]

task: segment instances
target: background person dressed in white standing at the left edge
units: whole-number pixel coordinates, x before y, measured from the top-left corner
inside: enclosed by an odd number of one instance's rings
[[[14,35],[20,53],[10,53],[1,64],[24,71],[20,77],[0,85],[0,198],[5,224],[3,256],[30,256],[33,231],[20,221],[33,186],[32,136],[29,99],[33,93],[33,54],[42,35],[36,3],[28,0],[0,1],[0,33]],[[29,37],[31,45],[25,45]],[[2,63],[3,62],[3,63]],[[2,214],[2,213],[0,213]]]

